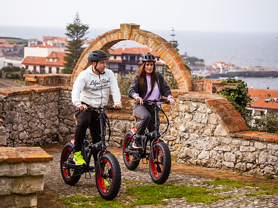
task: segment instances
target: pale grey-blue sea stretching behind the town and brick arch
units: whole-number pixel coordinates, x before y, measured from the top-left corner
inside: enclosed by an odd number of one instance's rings
[[[120,28],[120,25],[119,25]],[[140,26],[142,28],[142,26]],[[99,35],[116,28],[90,28],[86,35],[88,39],[95,39]],[[195,56],[203,59],[206,65],[224,61],[236,66],[263,66],[278,70],[278,31],[277,32],[212,32],[212,31],[179,31],[175,30],[148,30],[156,33],[165,40],[177,40],[181,55]],[[24,39],[42,36],[65,37],[63,27],[31,27],[31,26],[0,26],[1,37],[20,37]],[[118,47],[143,46],[131,40],[119,42]],[[277,89],[278,78],[241,78],[247,87],[258,89]]]

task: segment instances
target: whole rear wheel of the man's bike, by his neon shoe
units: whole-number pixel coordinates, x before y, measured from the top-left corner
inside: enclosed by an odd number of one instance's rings
[[[74,148],[74,145],[71,142],[67,143],[64,146],[60,157],[60,171],[62,173],[63,180],[66,184],[69,184],[71,186],[79,182],[79,179],[81,177],[81,175],[78,174],[78,171],[76,171],[74,168],[70,168],[65,164],[74,164],[74,152],[72,151],[72,153],[70,153],[72,148]]]

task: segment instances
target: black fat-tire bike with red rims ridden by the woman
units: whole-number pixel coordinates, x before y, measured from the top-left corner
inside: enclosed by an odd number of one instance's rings
[[[145,139],[142,140],[142,149],[135,149],[132,147],[133,140],[136,137],[136,128],[131,128],[124,136],[124,146],[122,148],[124,164],[126,168],[135,170],[142,159],[143,164],[149,163],[149,173],[152,180],[156,184],[163,184],[166,182],[171,171],[171,154],[168,146],[160,137],[167,131],[169,127],[169,120],[165,112],[158,106],[158,103],[167,103],[167,99],[159,100],[144,100],[144,104],[152,105],[155,112],[155,130],[153,132],[145,131]],[[167,120],[167,128],[159,131],[158,112],[161,111]],[[136,119],[136,116],[133,115]],[[149,152],[147,152],[147,144],[149,142]],[[144,158],[146,162],[144,162]]]

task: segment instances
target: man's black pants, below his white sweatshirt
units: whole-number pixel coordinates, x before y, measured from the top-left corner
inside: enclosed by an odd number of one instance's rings
[[[92,137],[92,144],[101,141],[101,130],[99,123],[99,112],[96,111],[80,111],[74,107],[74,115],[77,119],[77,125],[74,132],[74,150],[81,151],[81,146],[86,135],[86,130],[89,127]],[[95,162],[97,161],[97,153],[93,155]]]

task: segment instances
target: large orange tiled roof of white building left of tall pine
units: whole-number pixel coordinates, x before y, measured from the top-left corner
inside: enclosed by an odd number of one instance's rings
[[[27,56],[22,61],[22,64],[25,65],[36,65],[36,66],[51,66],[51,67],[63,67],[64,66],[64,52],[52,52],[47,57],[36,57],[36,56]],[[56,61],[49,61],[48,58],[56,58]]]

